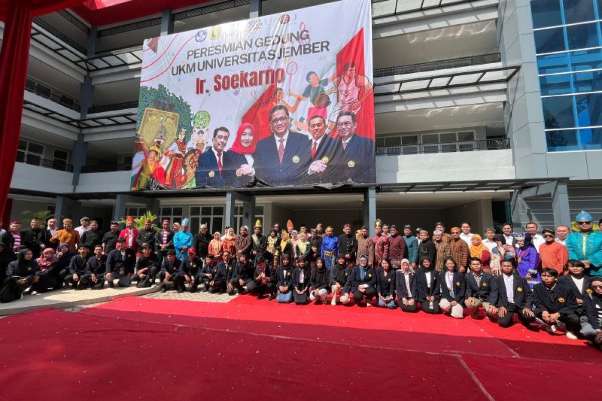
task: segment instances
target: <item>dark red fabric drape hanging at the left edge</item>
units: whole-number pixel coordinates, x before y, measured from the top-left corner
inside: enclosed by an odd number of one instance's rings
[[[0,210],[4,206],[17,158],[25,78],[29,61],[31,3],[11,0],[0,51]]]

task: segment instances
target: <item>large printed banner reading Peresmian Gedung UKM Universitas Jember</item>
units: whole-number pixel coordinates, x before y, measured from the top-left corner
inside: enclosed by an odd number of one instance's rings
[[[132,191],[376,181],[370,0],[143,51]]]

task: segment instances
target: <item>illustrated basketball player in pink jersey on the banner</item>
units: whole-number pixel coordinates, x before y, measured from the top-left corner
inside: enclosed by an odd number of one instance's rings
[[[337,93],[337,104],[335,105],[328,121],[328,127],[332,130],[337,123],[337,116],[341,111],[350,111],[358,114],[362,102],[372,93],[373,86],[368,77],[360,75],[356,71],[356,65],[351,61],[343,66],[343,75],[337,76],[332,80],[332,88],[324,92],[326,95]],[[362,96],[360,91],[364,89]]]

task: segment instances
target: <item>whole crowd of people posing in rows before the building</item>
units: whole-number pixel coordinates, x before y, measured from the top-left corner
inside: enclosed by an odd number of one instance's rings
[[[576,216],[577,231],[560,225],[525,231],[512,224],[501,233],[486,228],[484,239],[468,222],[432,231],[377,220],[343,233],[322,224],[297,231],[291,221],[267,235],[257,221],[253,233],[226,227],[211,234],[188,231],[188,219],[151,219],[138,230],[128,216],[119,229],[102,233],[96,221],[33,219],[21,229],[11,222],[0,231],[0,301],[51,289],[153,286],[165,292],[197,290],[249,293],[276,302],[378,305],[404,312],[445,313],[512,325],[514,315],[529,329],[561,330],[566,337],[602,343],[602,232],[587,212]],[[1,227],[1,226],[0,226]],[[598,221],[602,228],[602,219]]]

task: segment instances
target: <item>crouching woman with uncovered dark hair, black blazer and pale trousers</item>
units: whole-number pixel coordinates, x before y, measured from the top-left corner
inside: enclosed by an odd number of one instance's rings
[[[439,272],[441,284],[441,301],[439,307],[444,313],[456,319],[464,317],[464,299],[466,295],[466,281],[464,274],[458,271],[458,264],[451,257],[443,260],[444,270]]]

